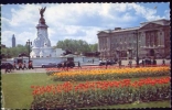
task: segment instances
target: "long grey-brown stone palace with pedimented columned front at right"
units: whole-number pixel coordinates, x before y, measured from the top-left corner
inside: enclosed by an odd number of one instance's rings
[[[161,19],[137,28],[99,31],[100,59],[165,57],[171,53],[170,29],[170,20]]]

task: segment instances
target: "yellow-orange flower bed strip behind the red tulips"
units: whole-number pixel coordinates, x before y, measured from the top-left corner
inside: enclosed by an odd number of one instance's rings
[[[170,75],[170,67],[72,69],[51,75],[54,80],[105,80]]]

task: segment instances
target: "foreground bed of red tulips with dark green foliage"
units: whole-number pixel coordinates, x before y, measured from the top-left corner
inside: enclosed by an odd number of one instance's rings
[[[136,81],[101,80],[31,86],[31,109],[76,109],[118,103],[170,100],[170,79],[142,78]]]

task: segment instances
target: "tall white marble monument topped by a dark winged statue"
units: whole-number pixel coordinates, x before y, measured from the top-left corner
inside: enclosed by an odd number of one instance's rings
[[[49,40],[47,34],[47,25],[45,23],[45,19],[43,18],[43,13],[45,11],[45,8],[42,8],[40,10],[40,21],[36,25],[37,29],[37,37],[33,41],[33,47],[32,52],[30,54],[31,57],[55,57],[56,56],[56,50],[54,50],[51,46],[51,41]],[[63,51],[61,52],[63,53]]]

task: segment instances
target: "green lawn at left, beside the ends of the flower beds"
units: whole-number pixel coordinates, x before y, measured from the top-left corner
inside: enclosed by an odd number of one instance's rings
[[[4,108],[30,108],[32,98],[31,85],[55,84],[46,74],[3,74],[2,91]]]

